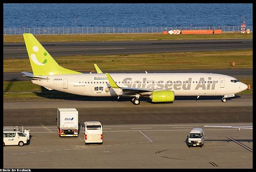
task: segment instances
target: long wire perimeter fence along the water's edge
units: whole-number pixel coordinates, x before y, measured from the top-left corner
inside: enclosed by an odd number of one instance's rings
[[[163,33],[173,29],[197,30],[197,29],[221,29],[222,32],[241,32],[241,26],[172,26],[172,27],[34,27],[34,28],[3,28],[4,35],[19,35],[23,33],[32,34],[143,34],[143,33]],[[246,29],[253,31],[253,25],[247,25]]]

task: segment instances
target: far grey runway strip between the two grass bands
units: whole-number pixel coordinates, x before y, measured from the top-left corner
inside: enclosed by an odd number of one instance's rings
[[[42,43],[52,57],[102,54],[143,54],[157,52],[198,52],[252,49],[252,39],[238,40],[157,40]],[[27,58],[25,43],[4,43],[3,58]]]

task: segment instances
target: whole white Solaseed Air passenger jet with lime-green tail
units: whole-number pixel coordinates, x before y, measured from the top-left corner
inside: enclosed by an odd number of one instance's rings
[[[134,105],[140,97],[152,102],[172,102],[175,96],[234,97],[247,89],[236,78],[212,73],[103,73],[83,74],[56,63],[33,34],[23,34],[33,74],[22,72],[31,82],[49,90],[84,96],[130,97]]]

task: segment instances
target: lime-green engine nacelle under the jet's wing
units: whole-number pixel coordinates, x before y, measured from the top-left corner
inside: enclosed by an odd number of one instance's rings
[[[152,102],[172,102],[174,97],[174,91],[170,90],[152,92],[150,96]]]

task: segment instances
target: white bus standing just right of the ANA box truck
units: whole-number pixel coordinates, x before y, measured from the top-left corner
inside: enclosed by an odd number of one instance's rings
[[[87,121],[83,124],[84,143],[103,143],[102,124],[99,121]]]

